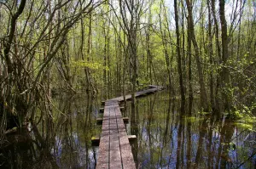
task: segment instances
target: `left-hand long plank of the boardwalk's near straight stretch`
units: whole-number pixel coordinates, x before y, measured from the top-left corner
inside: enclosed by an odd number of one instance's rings
[[[109,160],[109,108],[105,106],[102,122],[102,136],[99,146],[98,161],[96,163],[96,169],[108,168]]]

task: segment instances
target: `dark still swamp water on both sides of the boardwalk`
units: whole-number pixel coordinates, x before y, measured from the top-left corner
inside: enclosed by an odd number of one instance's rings
[[[0,152],[3,168],[95,168],[98,148],[90,139],[100,99],[61,96],[51,115],[38,115],[8,136]],[[256,168],[256,127],[248,116],[230,121],[201,112],[196,100],[191,112],[179,112],[178,100],[166,91],[127,104],[127,132],[137,135],[132,145],[137,168]]]

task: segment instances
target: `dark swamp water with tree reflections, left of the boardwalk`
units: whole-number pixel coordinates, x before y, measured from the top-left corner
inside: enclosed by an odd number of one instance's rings
[[[90,96],[85,100],[63,96],[54,103],[58,110],[53,107],[51,114],[44,115],[38,123],[31,122],[28,127],[9,133],[9,143],[0,149],[1,167],[94,167],[96,152],[90,146],[93,101]]]

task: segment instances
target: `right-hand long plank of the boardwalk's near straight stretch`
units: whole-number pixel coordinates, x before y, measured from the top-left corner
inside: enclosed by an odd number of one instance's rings
[[[121,149],[123,168],[136,169],[133,155],[131,153],[131,145],[127,137],[125,124],[121,115],[121,111],[119,110],[119,107],[116,109],[116,119],[117,119],[117,125],[119,129],[119,144]]]

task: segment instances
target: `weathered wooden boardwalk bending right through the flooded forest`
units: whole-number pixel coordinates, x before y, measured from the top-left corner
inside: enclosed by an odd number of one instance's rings
[[[137,92],[136,97],[154,93],[163,87],[152,86],[148,90]],[[131,99],[126,95],[125,99]],[[104,106],[102,121],[102,136],[100,139],[96,169],[135,169],[135,162],[131,153],[131,145],[125,130],[125,123],[120,111],[119,102],[124,97],[108,99]]]

